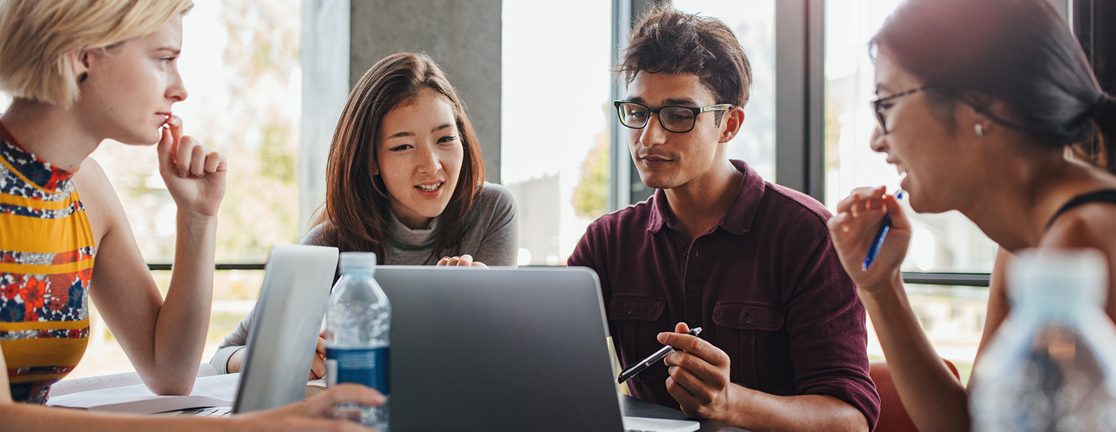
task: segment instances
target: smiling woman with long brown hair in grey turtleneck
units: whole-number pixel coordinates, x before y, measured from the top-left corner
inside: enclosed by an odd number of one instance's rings
[[[337,121],[326,203],[302,244],[375,252],[388,265],[516,265],[516,202],[484,181],[465,106],[422,53],[395,53],[365,72]],[[252,314],[211,363],[237,372]],[[310,379],[325,374],[325,340]]]

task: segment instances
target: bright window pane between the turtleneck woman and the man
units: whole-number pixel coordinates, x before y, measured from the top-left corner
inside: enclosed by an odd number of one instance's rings
[[[500,175],[519,264],[559,265],[607,210],[612,6],[503,2]]]

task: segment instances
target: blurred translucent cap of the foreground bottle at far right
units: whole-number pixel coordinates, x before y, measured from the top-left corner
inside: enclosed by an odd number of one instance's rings
[[[1097,249],[1022,251],[1010,267],[1008,286],[1020,305],[1057,307],[1084,302],[1099,306],[1108,292],[1108,261]]]

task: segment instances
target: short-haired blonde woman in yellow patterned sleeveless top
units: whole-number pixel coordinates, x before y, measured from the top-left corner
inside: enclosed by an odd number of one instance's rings
[[[307,403],[217,418],[137,418],[42,406],[77,365],[89,301],[147,387],[189,394],[213,295],[224,156],[183,135],[172,115],[190,0],[0,1],[0,429],[4,431],[352,430],[323,419],[337,403],[383,403],[359,385]],[[155,145],[177,206],[165,298],[124,208],[89,158],[103,143]],[[105,144],[117,145],[117,144]]]

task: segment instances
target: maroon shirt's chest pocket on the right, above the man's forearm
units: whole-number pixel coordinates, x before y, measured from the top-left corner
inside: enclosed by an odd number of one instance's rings
[[[761,381],[773,376],[760,376],[764,364],[780,364],[790,359],[781,359],[785,350],[773,350],[782,345],[779,332],[783,325],[782,307],[778,304],[750,301],[721,301],[713,306],[713,323],[718,325],[714,344],[733,359],[730,380],[756,389]],[[785,342],[785,341],[783,341]],[[757,354],[762,359],[757,359]],[[775,381],[782,381],[777,379]]]

